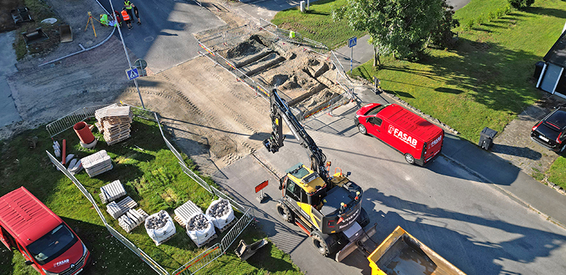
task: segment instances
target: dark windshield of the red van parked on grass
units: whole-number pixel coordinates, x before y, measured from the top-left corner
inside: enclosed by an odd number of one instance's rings
[[[75,242],[77,242],[77,237],[74,237],[67,225],[62,223],[28,245],[28,251],[39,264],[43,265],[59,257]]]

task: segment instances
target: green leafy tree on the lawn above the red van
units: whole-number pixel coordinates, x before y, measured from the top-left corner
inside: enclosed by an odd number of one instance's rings
[[[348,0],[332,11],[334,20],[346,19],[353,30],[366,31],[374,45],[374,64],[381,50],[416,59],[431,31],[444,15],[445,0]]]

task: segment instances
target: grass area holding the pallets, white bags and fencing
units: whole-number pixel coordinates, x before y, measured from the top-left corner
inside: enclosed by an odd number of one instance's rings
[[[95,133],[99,138],[101,135]],[[35,149],[28,149],[26,138],[38,136],[40,142]],[[77,135],[72,130],[55,137],[61,143],[67,140],[67,154],[85,157],[94,150],[85,150],[78,144]],[[65,222],[76,229],[77,234],[91,250],[94,265],[89,266],[84,274],[153,274],[154,271],[109,235],[99,216],[87,198],[84,198],[70,179],[58,172],[50,163],[45,150],[52,152],[52,141],[44,128],[28,130],[0,145],[0,196],[26,186],[35,196],[43,201]],[[141,149],[140,149],[141,148]],[[172,215],[187,200],[192,200],[204,210],[214,199],[199,184],[185,175],[177,164],[177,159],[168,150],[159,133],[157,124],[143,119],[134,119],[132,138],[113,145],[99,142],[96,150],[105,149],[113,160],[113,169],[94,178],[89,178],[83,171],[75,175],[87,188],[96,201],[99,201],[99,188],[110,181],[120,179],[128,196],[138,202],[139,207],[152,214],[165,210]],[[186,157],[186,156],[185,156]],[[189,165],[191,162],[187,159]],[[210,179],[206,179],[213,184]],[[197,249],[185,230],[177,223],[177,234],[163,245],[156,247],[143,225],[135,228],[131,234],[123,231],[117,220],[106,213],[106,206],[99,203],[99,208],[113,228],[128,237],[135,245],[143,249],[159,262],[167,271],[174,271],[196,254],[206,249]],[[241,213],[237,213],[237,216]],[[250,243],[265,235],[255,227],[249,227],[240,238]],[[220,238],[211,244],[218,242]],[[239,238],[238,238],[239,240]],[[233,253],[235,245],[217,262],[207,266],[201,274],[301,274],[292,264],[289,255],[273,245],[264,248],[262,253],[243,262]],[[19,253],[0,249],[0,274],[37,274],[33,268],[23,264]]]

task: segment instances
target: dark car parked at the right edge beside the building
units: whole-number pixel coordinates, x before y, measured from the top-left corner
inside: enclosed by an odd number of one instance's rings
[[[555,152],[566,149],[566,105],[556,108],[531,131],[531,139]]]

